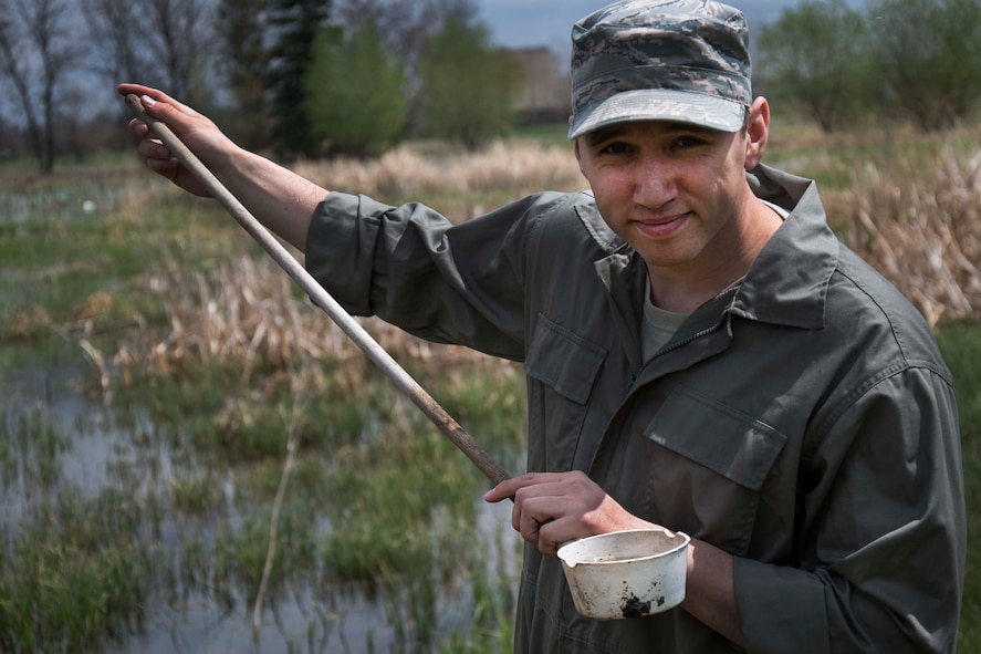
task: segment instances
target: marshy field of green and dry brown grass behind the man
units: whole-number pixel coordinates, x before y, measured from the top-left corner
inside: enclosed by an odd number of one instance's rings
[[[583,187],[563,129],[534,137],[481,157],[429,145],[298,168],[465,220]],[[817,178],[836,230],[936,323],[957,380],[971,542],[977,142],[969,131],[827,138],[790,125],[774,128],[768,157]],[[0,651],[138,651],[126,643],[161,623],[179,634],[202,606],[216,622],[254,624],[244,643],[264,652],[338,640],[508,648],[518,544],[474,532],[486,481],[233,221],[125,156],[52,178],[25,170],[0,169],[0,487],[15,498],[0,509]],[[902,266],[890,268],[897,250]],[[364,324],[494,458],[521,468],[520,368]],[[65,408],[72,397],[87,408]],[[96,473],[69,474],[101,447]],[[979,565],[969,549],[962,652],[981,651]],[[380,615],[364,633],[352,598]]]

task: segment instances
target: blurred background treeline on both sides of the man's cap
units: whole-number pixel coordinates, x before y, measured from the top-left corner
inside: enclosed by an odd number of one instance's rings
[[[758,93],[828,132],[974,117],[981,0],[853,6],[803,0],[760,25]],[[282,158],[371,156],[408,137],[476,148],[508,128],[528,83],[473,0],[0,0],[0,158],[50,173],[56,156],[118,147],[126,118],[105,98],[119,81]]]

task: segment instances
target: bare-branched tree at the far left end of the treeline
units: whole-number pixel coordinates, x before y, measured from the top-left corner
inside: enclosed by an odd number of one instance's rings
[[[76,59],[67,0],[0,0],[0,75],[13,87],[42,174],[54,170],[55,92]]]

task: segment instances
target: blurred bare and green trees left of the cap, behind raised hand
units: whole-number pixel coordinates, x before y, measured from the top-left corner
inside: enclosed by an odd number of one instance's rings
[[[473,0],[0,0],[0,157],[50,173],[106,144],[122,105],[84,110],[119,81],[296,158],[479,147],[508,127],[521,70]]]

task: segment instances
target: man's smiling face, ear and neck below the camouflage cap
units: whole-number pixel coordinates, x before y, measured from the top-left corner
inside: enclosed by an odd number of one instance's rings
[[[782,222],[745,179],[768,126],[760,98],[742,132],[640,122],[576,141],[599,214],[647,262],[661,309],[689,312],[745,274]]]

